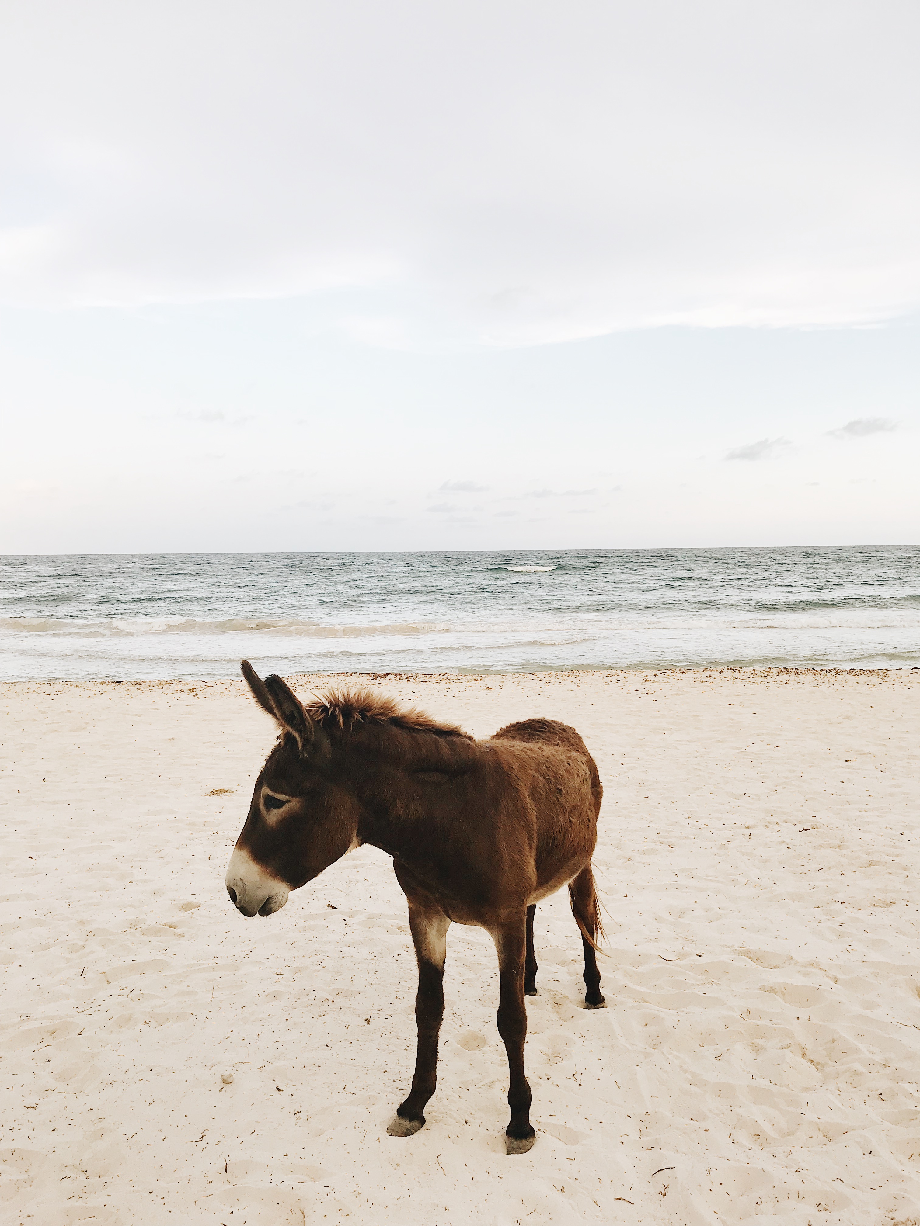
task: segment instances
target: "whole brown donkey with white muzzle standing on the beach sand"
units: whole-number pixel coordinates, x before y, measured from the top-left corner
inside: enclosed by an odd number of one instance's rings
[[[534,911],[568,885],[585,953],[585,1003],[604,1004],[602,935],[591,875],[601,783],[574,731],[553,720],[510,723],[488,741],[367,690],[304,705],[280,677],[243,676],[280,736],[255,781],[227,868],[245,916],[267,916],[361,843],[393,856],[418,959],[418,1049],[412,1089],[386,1129],[411,1137],[434,1094],[451,922],[496,943],[498,1032],[510,1072],[509,1154],[534,1144],[524,1075],[525,993],[536,993]]]

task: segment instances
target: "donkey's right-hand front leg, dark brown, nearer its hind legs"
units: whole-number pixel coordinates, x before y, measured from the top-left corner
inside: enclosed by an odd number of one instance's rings
[[[524,1004],[524,961],[526,956],[526,912],[520,920],[503,924],[492,933],[498,950],[500,996],[498,999],[498,1034],[508,1052],[510,1087],[508,1106],[512,1118],[505,1128],[504,1144],[509,1154],[526,1154],[534,1144],[530,1127],[532,1095],[524,1075],[524,1041],[527,1037],[527,1010]]]

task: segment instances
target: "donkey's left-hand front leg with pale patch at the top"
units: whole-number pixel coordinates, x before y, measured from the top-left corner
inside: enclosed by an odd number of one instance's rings
[[[439,908],[410,899],[408,926],[418,960],[418,1048],[412,1089],[390,1121],[386,1129],[390,1137],[411,1137],[424,1123],[424,1106],[438,1081],[438,1034],[444,1015],[444,959],[450,921]]]

